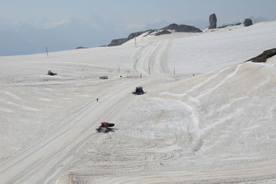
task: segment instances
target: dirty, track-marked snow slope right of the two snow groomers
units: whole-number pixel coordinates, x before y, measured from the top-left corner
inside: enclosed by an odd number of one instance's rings
[[[70,176],[88,183],[275,179],[275,70],[276,57],[147,86],[121,117],[119,132],[90,141]]]

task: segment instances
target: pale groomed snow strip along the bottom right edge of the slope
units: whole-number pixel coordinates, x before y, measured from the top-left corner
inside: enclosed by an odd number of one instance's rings
[[[275,183],[276,163],[228,167],[220,170],[199,170],[193,172],[157,172],[132,174],[130,176],[108,177],[95,183]],[[234,182],[233,182],[234,181]],[[236,181],[236,182],[235,182]]]

